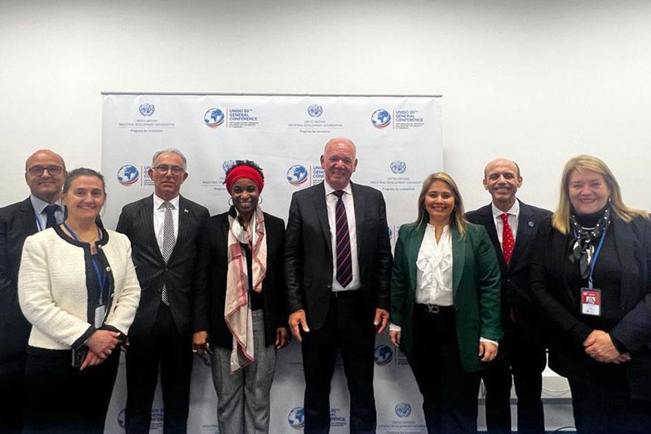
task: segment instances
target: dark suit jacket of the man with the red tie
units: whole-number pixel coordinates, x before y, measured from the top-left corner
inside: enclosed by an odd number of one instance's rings
[[[552,215],[552,211],[527,205],[521,200],[518,202],[520,203],[520,215],[517,220],[515,247],[508,265],[506,265],[502,247],[499,245],[499,238],[497,238],[491,205],[488,204],[475,211],[467,212],[466,220],[486,227],[490,241],[495,247],[499,271],[502,272],[502,326],[507,332],[513,327],[513,321],[510,318],[510,313],[513,312],[518,327],[526,330],[524,334],[535,340],[539,334],[536,327],[539,309],[533,304],[531,296],[529,262],[536,231],[541,221]]]

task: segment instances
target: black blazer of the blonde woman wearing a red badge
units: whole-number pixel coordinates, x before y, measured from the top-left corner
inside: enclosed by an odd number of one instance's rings
[[[651,221],[623,222],[614,213],[612,231],[621,262],[623,318],[610,330],[630,352],[627,367],[631,396],[651,400]],[[564,275],[568,236],[541,223],[531,260],[531,290],[544,309],[555,339],[549,342],[549,366],[568,378],[585,380],[588,356],[583,340],[592,331],[581,321],[579,288],[570,288]]]

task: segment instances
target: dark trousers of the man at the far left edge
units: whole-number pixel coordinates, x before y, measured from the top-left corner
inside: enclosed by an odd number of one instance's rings
[[[26,362],[26,354],[0,360],[0,434],[20,434],[23,429]]]

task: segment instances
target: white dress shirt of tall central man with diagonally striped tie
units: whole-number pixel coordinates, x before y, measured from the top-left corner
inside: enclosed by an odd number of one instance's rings
[[[347,287],[342,287],[337,281],[337,219],[335,218],[335,210],[337,208],[337,201],[339,198],[333,194],[335,189],[330,187],[327,181],[324,181],[326,194],[326,206],[328,208],[328,223],[330,225],[330,242],[332,245],[332,290],[333,291],[353,291],[360,289],[362,281],[360,280],[360,262],[358,262],[357,254],[357,227],[355,227],[355,203],[353,202],[353,192],[351,184],[342,189],[344,195],[341,196],[344,207],[346,207],[346,217],[348,220],[348,232],[351,236],[351,264],[353,265],[353,280]]]

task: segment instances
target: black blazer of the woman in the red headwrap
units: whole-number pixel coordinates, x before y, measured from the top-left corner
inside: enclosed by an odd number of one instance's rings
[[[267,274],[262,280],[262,311],[265,313],[265,344],[276,342],[276,329],[287,327],[285,275],[285,222],[265,214]],[[212,216],[199,240],[198,281],[194,293],[194,331],[207,330],[210,343],[233,347],[233,335],[224,320],[228,271],[228,213]]]

